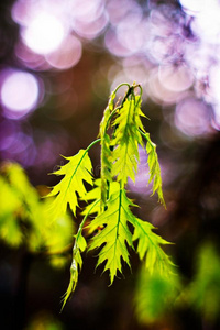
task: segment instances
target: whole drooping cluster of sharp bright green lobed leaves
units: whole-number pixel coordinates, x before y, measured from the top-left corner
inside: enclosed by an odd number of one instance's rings
[[[114,105],[117,91],[121,86],[128,87],[127,94],[120,105]],[[140,95],[136,95],[135,90],[139,90]],[[139,150],[140,146],[144,147],[144,141],[146,141],[153,194],[157,193],[158,201],[165,206],[156,146],[141,121],[141,118],[145,117],[141,111],[141,96],[140,85],[120,85],[111,94],[105,110],[100,123],[100,138],[86,150],[80,150],[77,155],[67,157],[68,163],[54,173],[64,177],[48,194],[48,196],[55,196],[51,210],[52,218],[57,212],[58,215],[65,213],[68,205],[76,215],[77,195],[89,201],[82,211],[85,217],[75,235],[70,282],[64,296],[63,307],[76,288],[78,271],[82,265],[81,252],[86,250],[87,244],[88,251],[99,251],[97,266],[105,263],[103,271],[109,271],[110,284],[119,273],[122,273],[122,261],[131,266],[130,249],[136,250],[151,273],[158,272],[162,275],[172,273],[173,264],[161,248],[161,244],[168,242],[153,232],[152,224],[132,213],[131,207],[135,205],[127,196],[128,179],[135,182],[140,163]],[[101,170],[100,179],[95,184],[88,151],[96,143],[101,145]],[[84,182],[90,186],[95,185],[95,188],[87,193]],[[94,220],[91,216],[95,217]],[[90,239],[86,242],[82,228],[88,222],[88,217],[91,221],[86,227]],[[138,248],[133,244],[134,241],[138,241]]]

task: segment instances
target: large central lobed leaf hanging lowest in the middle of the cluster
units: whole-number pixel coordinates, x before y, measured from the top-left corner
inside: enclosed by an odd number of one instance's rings
[[[89,224],[90,232],[97,228],[103,228],[92,238],[89,250],[102,248],[97,266],[107,261],[105,271],[109,270],[110,272],[110,284],[112,284],[118,271],[122,273],[121,260],[124,260],[130,266],[127,244],[133,248],[132,234],[128,227],[128,221],[133,218],[129,208],[131,204],[120,184],[113,183],[110,185],[107,209]]]

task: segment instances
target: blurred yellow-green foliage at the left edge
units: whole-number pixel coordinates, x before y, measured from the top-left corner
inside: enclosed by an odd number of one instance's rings
[[[62,252],[72,243],[70,217],[57,216],[52,222],[48,217],[51,200],[40,198],[16,163],[7,162],[1,166],[0,187],[1,240],[13,248],[25,245],[34,254],[45,253],[53,265],[61,266],[65,262]]]

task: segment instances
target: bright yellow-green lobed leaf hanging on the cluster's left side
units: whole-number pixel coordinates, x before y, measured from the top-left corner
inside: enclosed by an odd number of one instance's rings
[[[73,213],[76,216],[76,207],[78,206],[78,197],[86,198],[87,190],[84,180],[94,185],[91,176],[91,161],[87,151],[80,150],[78,154],[73,157],[64,157],[69,162],[53,174],[64,178],[53,187],[52,191],[47,195],[56,196],[53,202],[53,216],[66,212],[67,205],[69,204]]]

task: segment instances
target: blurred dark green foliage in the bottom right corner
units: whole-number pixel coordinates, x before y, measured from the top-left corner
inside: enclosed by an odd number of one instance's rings
[[[169,276],[151,275],[141,268],[135,288],[135,312],[140,323],[163,321],[172,315],[191,309],[206,323],[220,318],[220,255],[211,242],[205,242],[195,256],[191,279],[176,272]]]

